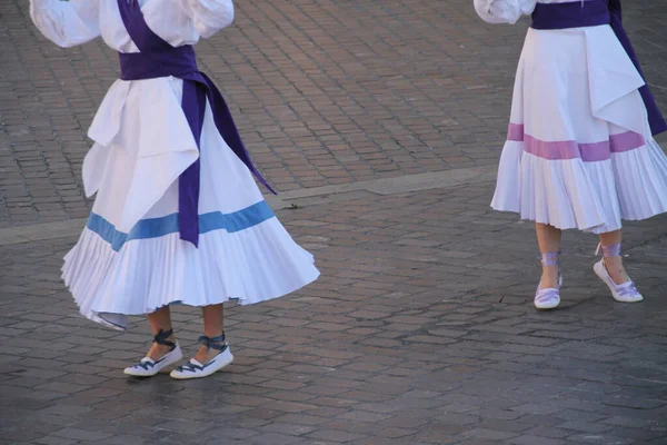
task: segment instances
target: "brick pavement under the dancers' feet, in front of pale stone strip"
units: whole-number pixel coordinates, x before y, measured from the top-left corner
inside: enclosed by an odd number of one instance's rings
[[[645,303],[615,303],[594,237],[568,233],[563,308],[538,313],[531,227],[488,210],[491,191],[280,210],[322,277],[229,306],[237,360],[200,382],[122,375],[149,330],[74,316],[57,273],[73,238],[3,246],[0,444],[667,443],[667,217],[626,229]],[[192,352],[198,309],[176,310]]]

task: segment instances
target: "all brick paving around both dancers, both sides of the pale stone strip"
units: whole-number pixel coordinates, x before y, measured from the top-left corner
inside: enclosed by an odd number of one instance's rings
[[[526,28],[469,3],[239,1],[200,63],[286,194],[465,171],[497,162]],[[667,1],[626,3],[667,109]],[[126,378],[149,329],[77,316],[59,276],[76,238],[2,244],[87,216],[84,129],[117,77],[100,42],[58,49],[27,11],[0,0],[0,445],[667,444],[667,216],[626,227],[644,303],[615,303],[596,240],[568,233],[563,306],[538,313],[532,228],[489,210],[486,179],[288,200],[278,216],[322,277],[228,306],[225,372]],[[187,356],[198,313],[175,313]]]

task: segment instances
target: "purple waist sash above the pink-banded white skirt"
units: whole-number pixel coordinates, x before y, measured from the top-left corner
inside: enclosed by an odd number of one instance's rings
[[[616,33],[618,41],[627,52],[635,65],[637,71],[644,79],[644,86],[639,88],[639,93],[644,100],[648,113],[648,123],[651,134],[658,135],[667,131],[667,122],[660,113],[654,96],[648,89],[644,71],[633,49],[630,39],[623,28],[620,0],[585,0],[571,1],[567,3],[537,3],[532,12],[534,29],[567,29],[596,27],[599,24],[609,24]]]

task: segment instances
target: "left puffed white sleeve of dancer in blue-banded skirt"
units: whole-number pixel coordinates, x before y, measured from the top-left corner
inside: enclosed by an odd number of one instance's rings
[[[62,48],[100,34],[99,0],[30,0],[30,17],[42,34]]]

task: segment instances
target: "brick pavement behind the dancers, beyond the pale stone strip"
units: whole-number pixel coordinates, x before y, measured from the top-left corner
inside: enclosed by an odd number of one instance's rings
[[[624,6],[667,109],[667,1]],[[495,164],[525,29],[471,0],[245,0],[198,51],[285,191]],[[84,132],[116,56],[47,42],[27,0],[0,0],[0,228],[86,216]]]

